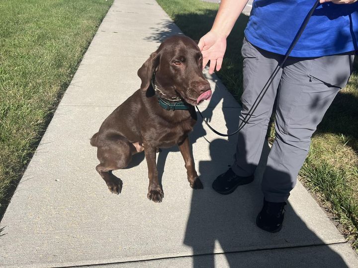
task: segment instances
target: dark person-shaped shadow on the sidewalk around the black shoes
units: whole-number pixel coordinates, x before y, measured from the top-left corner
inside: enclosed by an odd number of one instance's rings
[[[268,143],[265,146],[259,166],[265,165],[267,160]],[[232,160],[232,154],[228,152],[235,147],[229,141],[218,138],[211,141],[209,148],[211,160],[199,162],[199,177],[204,189],[192,191],[190,214],[183,240],[183,244],[192,249],[193,268],[215,267],[216,253],[224,253],[229,267],[241,267],[243,261],[245,267],[257,267],[259,263],[263,265],[265,262],[260,258],[255,259],[258,258],[255,255],[257,250],[290,248],[293,245],[302,247],[308,245],[308,241],[314,241],[312,245],[324,245],[294,212],[289,202],[285,208],[283,228],[279,233],[268,233],[256,226],[256,216],[263,204],[263,169],[260,167],[253,183],[239,186],[227,196],[217,194],[211,187],[212,181],[227,170],[227,163]],[[242,148],[242,153],[246,153],[245,148]],[[310,249],[312,250],[314,249]],[[320,250],[320,247],[316,248],[317,256],[322,255]],[[270,260],[269,265],[285,267],[285,264],[291,263],[294,267],[301,267],[299,262],[302,261],[308,267],[332,267],[332,264],[335,267],[347,267],[339,254],[328,247],[325,250],[327,255],[323,255],[322,259],[305,259],[306,254],[297,254],[295,258],[291,254],[280,254],[278,259]],[[254,254],[232,254],[243,252]],[[252,259],[247,259],[249,257]],[[247,266],[248,264],[250,265]]]

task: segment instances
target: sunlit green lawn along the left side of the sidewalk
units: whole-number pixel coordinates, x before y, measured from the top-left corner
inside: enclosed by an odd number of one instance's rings
[[[0,1],[0,219],[111,3]]]

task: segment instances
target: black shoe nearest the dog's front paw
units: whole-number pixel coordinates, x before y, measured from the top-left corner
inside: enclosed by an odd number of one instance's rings
[[[212,188],[222,195],[228,195],[235,191],[239,185],[251,183],[254,180],[254,175],[249,177],[238,176],[229,168],[228,171],[219,175],[212,183]]]

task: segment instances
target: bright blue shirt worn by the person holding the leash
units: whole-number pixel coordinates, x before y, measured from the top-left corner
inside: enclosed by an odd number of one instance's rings
[[[315,0],[254,0],[246,39],[284,55]],[[321,57],[358,50],[358,2],[319,4],[290,56]]]

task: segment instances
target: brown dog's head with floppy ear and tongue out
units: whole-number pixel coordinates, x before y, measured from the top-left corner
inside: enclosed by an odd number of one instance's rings
[[[138,70],[141,89],[147,90],[155,71],[155,84],[169,97],[197,105],[211,96],[209,82],[202,74],[202,55],[186,36],[166,39]]]

